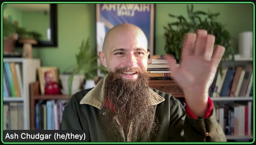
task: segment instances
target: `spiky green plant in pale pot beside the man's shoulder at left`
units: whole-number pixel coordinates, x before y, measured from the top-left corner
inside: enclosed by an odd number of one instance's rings
[[[79,52],[76,54],[76,65],[73,72],[71,74],[60,75],[62,87],[68,86],[69,98],[71,98],[74,91],[79,91],[77,89],[81,88],[83,85],[81,83],[88,83],[90,80],[94,81],[93,78],[97,75],[98,69],[97,58],[97,53],[89,44],[89,38],[86,42],[82,41]],[[64,79],[68,79],[68,84],[65,83]]]

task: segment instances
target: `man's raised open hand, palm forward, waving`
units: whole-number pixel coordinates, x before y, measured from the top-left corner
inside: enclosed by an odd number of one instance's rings
[[[205,30],[198,30],[196,34],[188,33],[179,67],[173,56],[165,55],[173,78],[182,88],[188,107],[197,117],[204,117],[208,90],[225,51],[220,45],[214,49],[214,41],[215,37]]]

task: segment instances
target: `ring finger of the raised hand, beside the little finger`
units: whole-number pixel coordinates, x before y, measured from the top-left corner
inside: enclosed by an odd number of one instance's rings
[[[213,35],[208,34],[206,38],[206,49],[204,53],[204,58],[207,61],[211,61],[212,54],[213,54],[213,47],[214,47],[215,37]]]

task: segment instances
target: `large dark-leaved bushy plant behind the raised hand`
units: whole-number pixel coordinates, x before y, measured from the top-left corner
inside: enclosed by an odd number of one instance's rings
[[[168,23],[168,26],[164,26],[164,38],[166,53],[172,54],[176,61],[179,63],[181,57],[181,48],[183,37],[188,32],[195,32],[198,29],[207,30],[208,34],[215,36],[215,45],[219,44],[225,47],[225,53],[220,61],[218,69],[222,75],[222,62],[225,61],[231,55],[232,66],[234,67],[234,48],[231,46],[231,35],[224,29],[224,25],[216,21],[219,13],[213,14],[211,12],[193,11],[193,4],[191,8],[187,5],[187,12],[189,19],[186,20],[184,16],[175,16],[169,14],[171,18],[178,19],[176,22]]]

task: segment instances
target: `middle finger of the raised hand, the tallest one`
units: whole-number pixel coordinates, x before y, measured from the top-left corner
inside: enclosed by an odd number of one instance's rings
[[[195,40],[195,55],[203,55],[205,52],[205,44],[207,38],[206,30],[197,30],[196,40]]]

